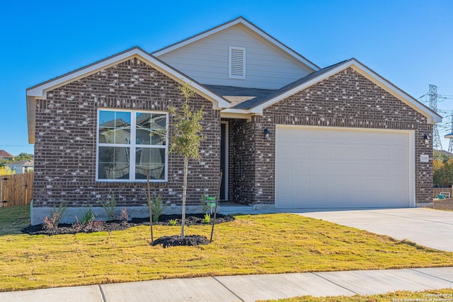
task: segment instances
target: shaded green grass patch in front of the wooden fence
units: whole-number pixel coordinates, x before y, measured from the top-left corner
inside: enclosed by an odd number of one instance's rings
[[[20,234],[30,225],[30,206],[0,208],[0,236]]]

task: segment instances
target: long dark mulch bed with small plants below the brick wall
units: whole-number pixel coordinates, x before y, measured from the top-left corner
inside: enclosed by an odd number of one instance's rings
[[[185,217],[186,226],[196,226],[196,225],[206,225],[212,224],[203,222],[204,214],[188,214]],[[153,222],[153,225],[160,226],[170,226],[170,220],[177,219],[176,226],[181,225],[181,216],[180,215],[161,215],[159,221]],[[222,214],[217,214],[215,219],[215,224],[224,223],[233,221],[234,216],[224,216]],[[29,235],[62,235],[62,234],[76,234],[76,233],[93,233],[100,231],[122,231],[127,228],[132,228],[133,226],[149,226],[149,218],[145,219],[132,219],[130,221],[92,221],[86,225],[79,224],[63,224],[60,223],[58,228],[52,230],[45,230],[42,228],[42,224],[36,226],[28,226],[23,228],[22,233]],[[188,236],[187,236],[188,237]]]

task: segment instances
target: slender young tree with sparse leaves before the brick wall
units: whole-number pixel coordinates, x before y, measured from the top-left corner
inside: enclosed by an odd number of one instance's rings
[[[184,238],[188,163],[189,159],[200,159],[200,143],[204,137],[201,135],[203,128],[200,124],[200,121],[203,120],[203,108],[193,111],[189,106],[190,98],[195,95],[195,91],[190,88],[188,83],[179,86],[179,90],[185,101],[178,112],[173,106],[168,108],[170,114],[174,116],[174,124],[171,125],[173,136],[168,153],[174,152],[184,156],[183,211],[181,215],[181,237]]]

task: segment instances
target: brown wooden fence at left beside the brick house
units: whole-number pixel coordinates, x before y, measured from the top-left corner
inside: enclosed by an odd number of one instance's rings
[[[23,206],[33,199],[33,173],[0,176],[0,207]]]

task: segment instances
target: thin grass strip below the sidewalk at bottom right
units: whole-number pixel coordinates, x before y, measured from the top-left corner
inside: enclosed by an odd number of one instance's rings
[[[369,295],[369,296],[331,296],[331,297],[313,297],[302,296],[280,300],[268,300],[266,302],[389,302],[389,301],[453,301],[453,289],[435,289],[430,291],[395,291],[389,294]]]

